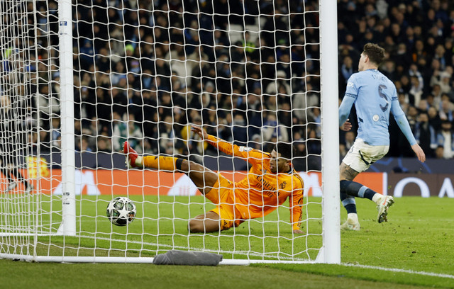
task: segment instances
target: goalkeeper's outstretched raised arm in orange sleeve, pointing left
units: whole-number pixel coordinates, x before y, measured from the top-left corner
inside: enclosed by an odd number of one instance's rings
[[[197,132],[203,140],[208,142],[210,145],[216,147],[221,152],[230,154],[235,157],[242,157],[247,159],[248,162],[254,164],[255,162],[262,162],[264,158],[268,157],[268,154],[261,152],[258,149],[251,149],[250,147],[240,147],[238,145],[233,145],[231,142],[226,142],[214,135],[209,135],[205,130],[192,125],[192,131]]]

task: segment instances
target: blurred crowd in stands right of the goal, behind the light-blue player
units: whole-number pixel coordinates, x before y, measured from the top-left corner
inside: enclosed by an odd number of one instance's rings
[[[358,67],[362,45],[379,43],[387,50],[380,71],[394,81],[399,103],[426,156],[453,158],[453,3],[341,0],[338,11],[340,89],[345,91],[348,77]],[[413,157],[394,119],[389,130],[388,156]],[[344,153],[352,137],[345,135]]]

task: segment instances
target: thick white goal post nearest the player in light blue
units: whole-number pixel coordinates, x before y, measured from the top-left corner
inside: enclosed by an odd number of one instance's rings
[[[341,263],[337,35],[337,5],[335,1],[320,0],[324,263]]]

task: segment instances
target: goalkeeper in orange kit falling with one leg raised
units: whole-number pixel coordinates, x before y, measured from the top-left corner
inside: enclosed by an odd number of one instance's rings
[[[304,234],[300,229],[304,185],[290,162],[292,145],[278,143],[268,154],[249,147],[238,147],[209,135],[194,125],[192,131],[198,133],[202,140],[206,140],[221,152],[246,159],[253,165],[248,176],[238,183],[232,183],[221,174],[216,174],[201,164],[176,157],[140,157],[128,142],[123,145],[129,166],[181,171],[187,174],[199,191],[216,205],[214,210],[189,221],[190,232],[219,232],[233,226],[238,227],[245,220],[265,217],[289,198],[290,223],[293,232]]]

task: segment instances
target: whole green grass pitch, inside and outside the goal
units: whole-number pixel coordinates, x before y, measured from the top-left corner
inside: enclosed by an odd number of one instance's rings
[[[133,200],[138,201],[138,198]],[[235,230],[216,234],[188,234],[187,220],[204,210],[214,208],[202,197],[147,198],[136,202],[138,216],[128,227],[112,227],[105,210],[110,198],[91,199],[84,196],[77,206],[77,229],[86,237],[63,239],[40,237],[38,254],[90,256],[155,256],[170,249],[208,248],[224,258],[314,259],[321,245],[319,205],[309,203],[309,221],[304,222],[308,236],[291,242],[288,209],[282,208],[265,217],[267,222],[244,222]],[[97,201],[96,201],[97,200]],[[309,198],[309,201],[319,201]],[[42,209],[50,203],[43,200]],[[389,222],[375,222],[375,205],[357,199],[360,232],[341,232],[342,265],[276,264],[253,266],[154,266],[150,264],[106,263],[26,263],[0,260],[0,279],[5,288],[106,288],[124,284],[135,288],[201,288],[213,284],[217,288],[454,288],[454,199],[398,198],[389,210]],[[57,204],[53,204],[57,206]],[[60,205],[61,206],[61,205]],[[145,212],[145,215],[144,215]],[[277,215],[279,220],[277,221]],[[52,214],[48,226],[57,228],[58,214]],[[341,208],[341,219],[346,217]],[[265,225],[264,225],[265,224]],[[145,232],[143,236],[141,233]],[[94,234],[96,232],[96,234]],[[127,234],[125,234],[127,233]],[[248,235],[252,237],[247,237]],[[96,237],[96,239],[94,238]],[[113,240],[113,241],[112,241]],[[117,240],[117,241],[115,241]],[[4,239],[5,242],[5,239]],[[52,245],[50,245],[50,242]],[[156,244],[160,244],[157,246]],[[306,245],[307,244],[307,245]],[[56,246],[55,246],[56,245]],[[114,247],[109,251],[106,248]],[[79,248],[79,249],[77,249]],[[2,248],[4,251],[6,245]],[[11,249],[11,247],[9,248]],[[246,287],[247,286],[247,287]]]

